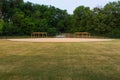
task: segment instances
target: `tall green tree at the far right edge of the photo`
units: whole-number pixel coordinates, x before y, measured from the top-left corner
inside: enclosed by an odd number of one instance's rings
[[[104,19],[105,24],[109,26],[108,36],[120,37],[120,1],[110,2],[105,5],[103,13],[107,15]],[[115,34],[116,33],[116,34]]]

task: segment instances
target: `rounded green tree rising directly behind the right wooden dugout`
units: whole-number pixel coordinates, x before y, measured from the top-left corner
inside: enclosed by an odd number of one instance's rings
[[[79,6],[74,10],[75,31],[89,31],[91,26],[92,11],[89,7]]]

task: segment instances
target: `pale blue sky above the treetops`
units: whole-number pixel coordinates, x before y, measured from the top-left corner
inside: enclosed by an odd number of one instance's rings
[[[86,6],[93,9],[94,7],[104,7],[105,4],[118,0],[24,0],[37,4],[52,5],[56,8],[67,10],[69,14],[73,14],[73,11],[78,6]]]

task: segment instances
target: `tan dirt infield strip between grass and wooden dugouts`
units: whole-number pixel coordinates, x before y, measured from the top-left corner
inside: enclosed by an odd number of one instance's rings
[[[112,39],[92,39],[92,38],[27,38],[27,39],[8,39],[10,41],[24,42],[95,42],[111,41]]]

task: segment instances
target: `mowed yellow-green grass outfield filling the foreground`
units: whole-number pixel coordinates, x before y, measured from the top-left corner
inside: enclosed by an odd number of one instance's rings
[[[120,80],[120,40],[83,43],[0,40],[0,80]]]

